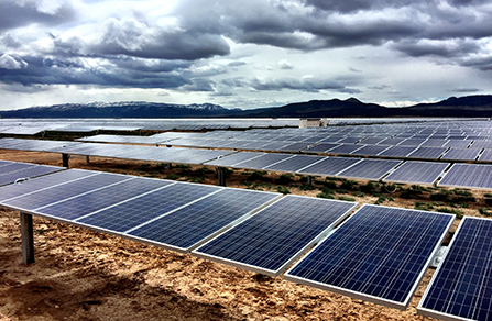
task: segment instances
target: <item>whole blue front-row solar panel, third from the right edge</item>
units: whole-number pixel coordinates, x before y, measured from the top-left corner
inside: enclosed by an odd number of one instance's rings
[[[286,196],[198,247],[194,254],[276,276],[356,206]]]

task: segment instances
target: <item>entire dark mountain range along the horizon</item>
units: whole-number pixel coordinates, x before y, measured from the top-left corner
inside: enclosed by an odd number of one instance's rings
[[[218,104],[171,104],[145,101],[64,103],[0,111],[2,118],[384,118],[384,117],[492,117],[492,96],[450,97],[436,103],[387,108],[347,100],[310,100],[283,107],[250,110]]]

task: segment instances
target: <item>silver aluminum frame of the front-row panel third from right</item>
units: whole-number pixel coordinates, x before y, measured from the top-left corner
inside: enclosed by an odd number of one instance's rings
[[[302,198],[309,198],[309,197],[305,197],[305,196],[296,196],[296,197],[302,197]],[[262,211],[266,210],[267,208],[274,206],[277,201],[280,201],[282,198],[277,199],[274,202],[271,202],[269,206],[264,207],[262,210],[258,211],[254,215],[261,213]],[[339,201],[339,200],[330,200],[330,201],[336,201],[336,202],[345,202],[345,203],[350,203],[347,201]],[[210,261],[215,261],[221,264],[226,264],[229,266],[234,266],[234,267],[239,267],[242,269],[247,269],[247,270],[251,270],[251,272],[255,272],[255,273],[260,273],[263,275],[267,275],[267,276],[272,276],[272,277],[277,277],[278,275],[281,275],[289,265],[292,265],[294,262],[296,262],[300,256],[303,256],[310,247],[313,247],[314,245],[318,244],[321,240],[326,239],[332,231],[334,228],[337,226],[338,224],[340,224],[341,222],[343,222],[343,220],[347,219],[347,217],[349,217],[351,214],[351,212],[359,207],[359,203],[353,203],[353,206],[348,209],[342,215],[340,215],[335,222],[332,222],[330,225],[328,225],[324,231],[321,231],[316,237],[314,237],[309,243],[307,243],[303,248],[300,248],[294,256],[292,256],[287,262],[285,262],[278,269],[276,270],[272,270],[272,269],[266,269],[266,268],[261,268],[254,265],[250,265],[250,264],[245,264],[245,263],[240,263],[240,262],[236,262],[236,261],[231,261],[231,259],[227,259],[227,258],[222,258],[222,257],[218,257],[215,255],[209,255],[209,254],[205,254],[198,251],[192,251],[192,255],[199,257],[199,258],[204,258],[204,259],[210,259]],[[253,217],[253,215],[251,215]],[[249,217],[249,218],[251,218]],[[248,219],[249,219],[248,218]],[[245,220],[244,220],[245,221]],[[219,237],[219,235],[210,239],[208,242],[205,242],[201,245],[205,245],[211,241],[214,241],[216,237]]]

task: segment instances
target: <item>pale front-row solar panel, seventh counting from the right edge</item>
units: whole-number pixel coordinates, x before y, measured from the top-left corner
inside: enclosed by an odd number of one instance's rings
[[[125,175],[100,173],[94,176],[87,176],[81,179],[70,181],[64,185],[57,185],[52,188],[43,189],[26,196],[21,196],[2,203],[22,210],[35,210],[96,188],[101,188],[110,184],[129,179]]]

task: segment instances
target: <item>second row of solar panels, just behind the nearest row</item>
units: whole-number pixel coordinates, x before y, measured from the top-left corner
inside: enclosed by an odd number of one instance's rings
[[[85,156],[150,162],[203,164],[241,169],[336,176],[402,184],[435,184],[460,188],[492,188],[492,165],[331,157],[259,152],[162,148],[154,146],[74,143],[34,140],[0,140],[0,148],[42,151]],[[450,167],[450,168],[449,168]]]

